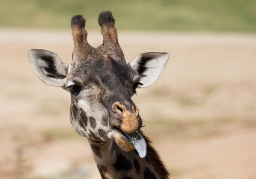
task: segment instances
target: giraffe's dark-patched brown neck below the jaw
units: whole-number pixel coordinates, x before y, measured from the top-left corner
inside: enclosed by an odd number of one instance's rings
[[[93,157],[102,179],[168,179],[169,173],[151,142],[147,143],[147,156],[140,158],[137,151],[122,151],[114,140],[89,140]]]

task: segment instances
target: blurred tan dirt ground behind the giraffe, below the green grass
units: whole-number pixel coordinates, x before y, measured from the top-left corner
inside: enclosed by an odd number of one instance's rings
[[[97,46],[99,31],[89,31]],[[133,97],[172,179],[256,179],[256,36],[119,32],[127,61],[167,51]],[[0,29],[0,179],[99,179],[69,121],[70,94],[33,73],[30,48],[71,60],[70,31]]]

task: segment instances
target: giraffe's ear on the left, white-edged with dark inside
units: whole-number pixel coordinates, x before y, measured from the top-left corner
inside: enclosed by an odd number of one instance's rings
[[[28,55],[35,74],[42,82],[52,86],[64,86],[69,65],[62,63],[55,52],[31,49]]]

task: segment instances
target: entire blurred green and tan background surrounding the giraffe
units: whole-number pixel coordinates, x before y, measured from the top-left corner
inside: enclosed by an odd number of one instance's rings
[[[127,61],[167,51],[138,89],[146,134],[172,179],[256,179],[255,0],[0,0],[0,179],[99,179],[87,139],[69,121],[70,94],[44,85],[27,50],[70,63],[70,20],[111,10]]]

